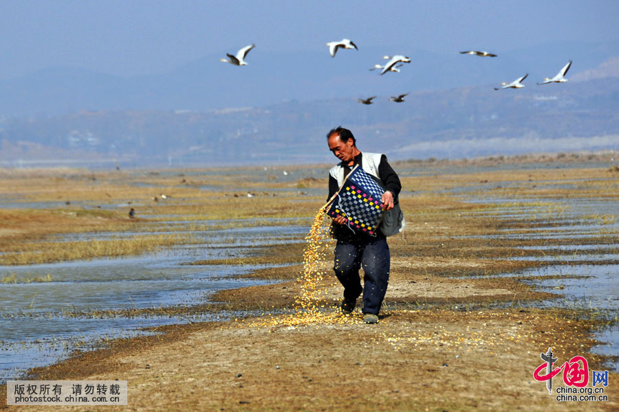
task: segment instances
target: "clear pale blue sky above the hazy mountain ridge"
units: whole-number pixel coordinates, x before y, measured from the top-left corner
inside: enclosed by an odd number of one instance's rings
[[[500,53],[617,40],[617,21],[619,1],[1,0],[0,79],[54,66],[162,73],[248,43],[276,52],[321,49],[343,37],[360,49]]]

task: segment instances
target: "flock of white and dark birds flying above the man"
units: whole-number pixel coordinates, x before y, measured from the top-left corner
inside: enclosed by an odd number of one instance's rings
[[[329,47],[329,54],[331,55],[331,57],[336,56],[338,49],[358,50],[357,45],[347,38],[343,38],[340,41],[329,42],[327,43],[327,46]],[[235,66],[246,66],[247,62],[245,61],[245,58],[247,57],[248,52],[254,47],[256,47],[256,45],[254,44],[247,45],[243,47],[242,49],[240,49],[236,55],[233,56],[232,54],[228,53],[226,54],[228,58],[221,58],[220,61],[224,63],[230,63],[231,65],[235,65]],[[470,54],[471,56],[479,56],[479,57],[497,57],[496,54],[492,54],[488,52],[480,52],[478,50],[467,50],[465,52],[460,52],[460,54]],[[411,58],[407,56],[402,56],[401,54],[397,54],[395,56],[383,56],[383,59],[389,60],[389,61],[385,63],[384,65],[380,65],[380,64],[374,65],[374,67],[370,69],[370,70],[380,70],[380,76],[384,75],[384,73],[387,73],[389,71],[392,71],[394,73],[399,73],[400,67],[402,67],[404,63],[411,62]],[[567,65],[563,66],[563,69],[561,69],[558,73],[556,73],[556,76],[552,78],[544,78],[543,82],[538,83],[538,84],[548,84],[548,83],[553,83],[553,82],[554,83],[567,82],[567,79],[565,78],[565,73],[567,73],[570,66],[572,66],[572,60],[569,60],[569,62],[567,62]],[[510,82],[510,83],[502,82],[501,87],[495,87],[494,89],[495,90],[521,89],[525,87],[525,85],[522,84],[522,82],[523,80],[525,80],[525,78],[527,78],[527,76],[529,76],[529,73],[526,73],[524,76],[517,78],[513,82]],[[396,103],[404,102],[404,97],[408,94],[409,93],[404,93],[398,96],[391,96],[391,98],[389,98],[389,102],[396,102]],[[370,98],[366,98],[366,99],[359,99],[358,102],[361,104],[373,104],[372,102],[373,99],[376,99],[376,96],[371,96]]]

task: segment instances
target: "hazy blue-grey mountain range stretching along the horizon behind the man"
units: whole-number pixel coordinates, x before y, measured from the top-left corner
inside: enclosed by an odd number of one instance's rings
[[[507,80],[512,80],[508,78]],[[333,161],[325,133],[342,124],[362,150],[391,159],[619,149],[619,78],[519,90],[491,85],[210,111],[81,111],[0,122],[0,161],[120,159],[131,165]],[[36,150],[24,150],[28,144]],[[15,148],[21,152],[16,151]],[[46,148],[46,149],[42,149]],[[87,154],[87,156],[85,156]]]

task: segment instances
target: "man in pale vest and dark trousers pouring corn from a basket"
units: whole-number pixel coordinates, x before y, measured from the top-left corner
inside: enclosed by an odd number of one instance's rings
[[[329,130],[327,142],[329,150],[340,159],[340,163],[329,171],[329,199],[338,192],[352,168],[360,165],[365,172],[378,179],[382,187],[385,187],[386,190],[381,196],[385,210],[393,209],[402,185],[398,175],[387,163],[387,157],[377,153],[360,152],[351,131],[341,126]],[[357,298],[363,293],[362,312],[365,314],[363,320],[365,323],[377,323],[378,312],[389,282],[390,258],[387,238],[380,230],[376,231],[376,237],[362,231],[354,232],[346,223],[347,219],[344,216],[333,218],[332,222],[332,234],[337,240],[334,271],[344,286],[342,312],[351,313]],[[399,224],[398,230],[402,230],[403,222]],[[365,272],[363,287],[359,277],[360,267],[363,267]]]

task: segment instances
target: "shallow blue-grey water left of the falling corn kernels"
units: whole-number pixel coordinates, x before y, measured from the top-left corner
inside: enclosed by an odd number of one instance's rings
[[[242,225],[243,222],[238,223]],[[181,224],[175,229],[171,233],[187,232]],[[135,336],[143,333],[140,328],[149,326],[228,319],[227,314],[102,319],[72,314],[90,310],[193,306],[207,301],[217,290],[268,284],[270,281],[239,278],[239,275],[267,265],[197,266],[186,263],[241,258],[252,251],[251,247],[300,242],[299,236],[305,232],[307,227],[294,225],[193,231],[191,234],[197,243],[138,257],[0,266],[0,279],[11,276],[16,282],[0,285],[0,382],[23,374],[30,367],[56,362],[72,350],[96,347],[101,344],[102,336],[114,339]],[[67,241],[106,239],[118,233],[100,235],[78,233],[60,238]],[[51,276],[51,282],[28,283],[29,279],[47,275]]]

